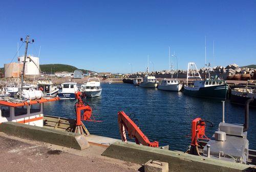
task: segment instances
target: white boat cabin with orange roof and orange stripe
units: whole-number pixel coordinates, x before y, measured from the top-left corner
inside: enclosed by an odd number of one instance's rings
[[[0,100],[0,123],[12,121],[35,126],[43,126],[43,104],[49,101],[59,100],[56,98],[40,98],[27,101]]]

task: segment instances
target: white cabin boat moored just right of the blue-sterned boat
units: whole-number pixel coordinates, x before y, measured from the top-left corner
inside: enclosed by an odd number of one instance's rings
[[[98,97],[101,95],[102,88],[100,87],[99,78],[89,78],[86,83],[80,87],[80,92],[87,97]]]

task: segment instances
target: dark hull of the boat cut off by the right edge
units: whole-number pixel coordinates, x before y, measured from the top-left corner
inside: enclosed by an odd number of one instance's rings
[[[253,94],[246,94],[243,92],[232,91],[230,96],[231,103],[245,105],[246,101],[253,97]],[[256,107],[256,101],[253,100],[249,104],[250,106]]]

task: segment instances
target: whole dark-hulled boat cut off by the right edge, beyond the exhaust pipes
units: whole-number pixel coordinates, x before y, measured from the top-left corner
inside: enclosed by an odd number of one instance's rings
[[[230,101],[231,103],[242,104],[250,98],[256,98],[256,90],[248,87],[234,88],[231,90]],[[250,106],[256,107],[256,101],[249,104]]]

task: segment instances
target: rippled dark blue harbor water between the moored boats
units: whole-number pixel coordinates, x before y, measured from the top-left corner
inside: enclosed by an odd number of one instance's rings
[[[120,139],[117,112],[124,111],[136,120],[142,132],[160,145],[184,151],[190,143],[191,121],[196,117],[213,122],[206,123],[206,135],[212,136],[222,120],[222,102],[196,98],[182,92],[146,89],[126,83],[102,83],[100,97],[87,98],[96,120],[84,122],[91,134]],[[76,100],[60,100],[44,104],[46,115],[75,118]],[[225,101],[225,122],[244,123],[244,106]],[[249,148],[256,149],[256,109],[249,110]]]

